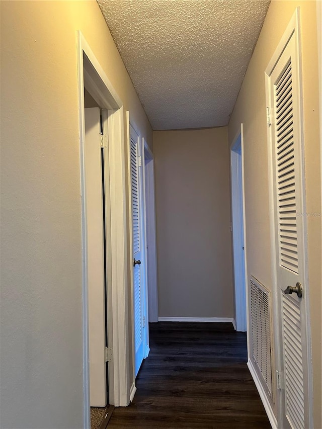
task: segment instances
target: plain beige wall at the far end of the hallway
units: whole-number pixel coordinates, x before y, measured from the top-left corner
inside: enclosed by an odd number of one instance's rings
[[[233,317],[227,128],[153,132],[159,316]]]

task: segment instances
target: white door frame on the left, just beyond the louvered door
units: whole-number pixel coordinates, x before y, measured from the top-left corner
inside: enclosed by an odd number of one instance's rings
[[[154,158],[151,149],[143,138],[144,179],[146,208],[146,243],[147,243],[147,297],[149,322],[158,321],[157,263],[156,263],[156,228],[155,228],[155,192]]]

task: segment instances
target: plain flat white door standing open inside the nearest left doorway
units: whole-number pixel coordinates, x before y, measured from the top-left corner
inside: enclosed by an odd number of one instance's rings
[[[85,109],[85,185],[88,249],[89,349],[91,406],[107,404],[105,361],[105,276],[101,117]]]

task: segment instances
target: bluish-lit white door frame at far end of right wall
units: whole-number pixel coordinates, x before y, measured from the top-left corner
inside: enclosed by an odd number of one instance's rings
[[[244,187],[244,128],[230,145],[231,221],[233,274],[235,292],[235,322],[237,331],[248,331],[246,225]],[[240,153],[239,153],[240,148]],[[241,178],[241,181],[240,181]],[[237,204],[236,204],[237,202]],[[241,204],[240,204],[241,202]]]

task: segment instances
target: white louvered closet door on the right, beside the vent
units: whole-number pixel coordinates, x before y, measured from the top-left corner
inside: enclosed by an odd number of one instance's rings
[[[293,33],[269,79],[272,118],[275,254],[279,302],[280,394],[283,428],[308,421],[304,214],[299,66]],[[300,283],[303,295],[295,291]],[[287,289],[287,287],[294,289]],[[299,289],[299,288],[298,288]],[[285,290],[287,290],[285,293]],[[293,292],[292,292],[293,291]],[[300,295],[300,293],[299,293]]]

